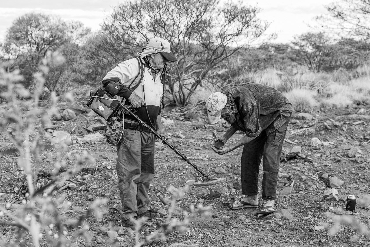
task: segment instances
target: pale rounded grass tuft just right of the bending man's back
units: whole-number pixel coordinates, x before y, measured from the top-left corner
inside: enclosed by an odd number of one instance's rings
[[[286,98],[292,103],[296,111],[307,110],[316,106],[318,104],[314,99],[316,95],[316,92],[304,88],[295,88],[285,93]]]

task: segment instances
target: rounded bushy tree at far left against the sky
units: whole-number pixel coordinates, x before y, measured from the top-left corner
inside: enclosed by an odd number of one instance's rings
[[[50,92],[55,90],[60,95],[70,89],[65,85],[70,85],[74,78],[68,75],[77,71],[75,66],[81,62],[79,46],[88,33],[90,29],[80,22],[67,23],[58,17],[30,13],[13,22],[1,50],[4,60],[13,61],[7,69],[20,69],[26,87],[34,86],[33,73],[39,71],[40,62],[50,52],[59,50],[67,55],[66,63],[51,67],[53,73],[46,76],[44,84]]]

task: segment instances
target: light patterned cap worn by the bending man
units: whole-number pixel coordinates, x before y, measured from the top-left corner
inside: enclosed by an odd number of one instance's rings
[[[217,123],[221,118],[221,111],[225,107],[228,97],[225,93],[216,92],[209,95],[206,101],[208,111],[208,122]]]

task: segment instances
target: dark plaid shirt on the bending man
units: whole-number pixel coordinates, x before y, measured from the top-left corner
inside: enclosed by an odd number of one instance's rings
[[[292,104],[279,91],[258,83],[245,83],[226,90],[227,103],[234,103],[232,126],[249,137],[266,135],[281,127],[293,112]]]

